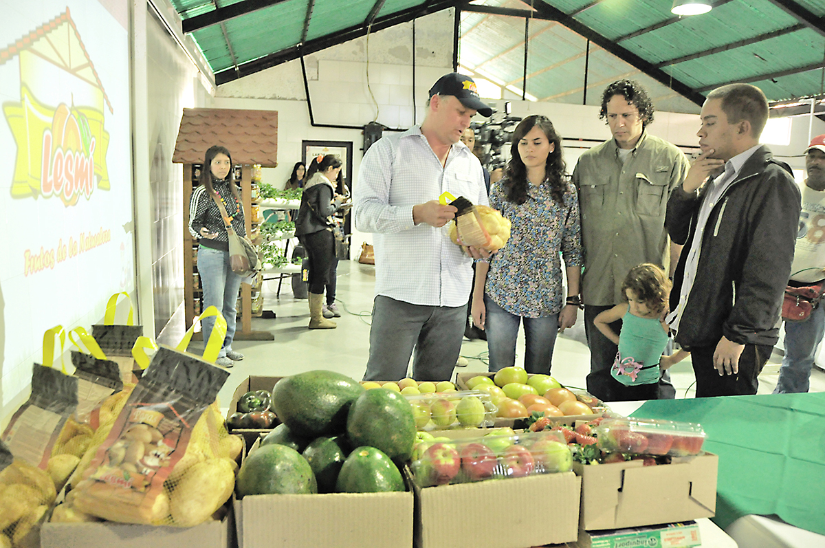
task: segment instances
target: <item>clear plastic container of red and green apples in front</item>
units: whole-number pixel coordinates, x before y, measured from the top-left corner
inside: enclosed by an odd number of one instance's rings
[[[568,472],[570,447],[561,432],[489,434],[419,442],[413,449],[413,480],[419,487]]]

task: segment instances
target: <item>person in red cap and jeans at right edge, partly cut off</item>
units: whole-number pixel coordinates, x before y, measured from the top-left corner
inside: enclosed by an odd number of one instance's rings
[[[802,211],[796,235],[794,263],[788,286],[819,286],[825,282],[825,135],[805,149],[808,178],[802,183]],[[816,305],[804,321],[785,320],[785,357],[774,394],[807,392],[813,357],[825,333],[825,307]]]

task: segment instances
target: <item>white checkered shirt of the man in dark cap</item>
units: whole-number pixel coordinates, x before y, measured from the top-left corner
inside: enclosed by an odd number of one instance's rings
[[[450,241],[447,226],[413,223],[413,206],[442,192],[488,205],[479,159],[455,143],[442,168],[421,127],[388,135],[361,160],[352,192],[356,229],[375,233],[375,295],[413,305],[462,306],[473,283],[472,259]]]

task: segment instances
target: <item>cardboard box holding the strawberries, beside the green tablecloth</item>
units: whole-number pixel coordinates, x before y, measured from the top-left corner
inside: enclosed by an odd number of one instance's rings
[[[643,461],[582,465],[581,527],[587,531],[641,527],[713,517],[719,456],[674,458],[669,465]]]

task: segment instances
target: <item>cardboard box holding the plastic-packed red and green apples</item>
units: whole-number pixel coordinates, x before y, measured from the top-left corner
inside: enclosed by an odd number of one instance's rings
[[[433,432],[450,439],[491,430]],[[581,479],[573,472],[420,488],[415,494],[416,548],[525,548],[576,541]]]

